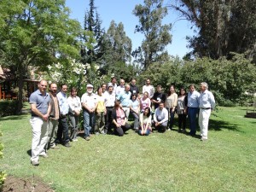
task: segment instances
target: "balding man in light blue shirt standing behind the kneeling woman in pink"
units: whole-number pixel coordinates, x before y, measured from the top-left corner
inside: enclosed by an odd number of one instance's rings
[[[130,98],[131,98],[131,92],[130,92],[130,85],[125,84],[125,91],[119,96],[117,96],[117,100],[121,103],[121,108],[125,111],[126,117],[128,119],[129,113],[130,113]]]

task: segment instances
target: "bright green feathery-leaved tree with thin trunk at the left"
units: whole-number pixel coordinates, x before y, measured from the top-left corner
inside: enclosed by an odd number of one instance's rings
[[[0,4],[0,57],[14,69],[22,108],[23,79],[28,67],[44,71],[53,63],[79,58],[79,22],[69,19],[64,0],[2,0]]]

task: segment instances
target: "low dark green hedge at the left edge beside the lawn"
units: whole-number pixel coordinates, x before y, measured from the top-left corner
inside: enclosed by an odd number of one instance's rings
[[[18,101],[2,100],[0,101],[0,117],[14,115],[18,108]]]

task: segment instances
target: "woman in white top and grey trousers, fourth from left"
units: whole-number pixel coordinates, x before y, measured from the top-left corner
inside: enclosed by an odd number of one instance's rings
[[[69,113],[68,117],[71,122],[71,132],[70,139],[72,142],[77,142],[77,135],[79,131],[79,115],[82,110],[81,100],[79,96],[77,96],[78,92],[76,88],[72,88],[70,90],[70,96],[67,98],[67,102],[69,105]]]

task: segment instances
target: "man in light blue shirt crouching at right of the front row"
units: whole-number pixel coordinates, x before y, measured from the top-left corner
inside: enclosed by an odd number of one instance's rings
[[[165,132],[168,124],[168,111],[164,102],[160,102],[159,107],[154,111],[154,127],[159,132]]]

